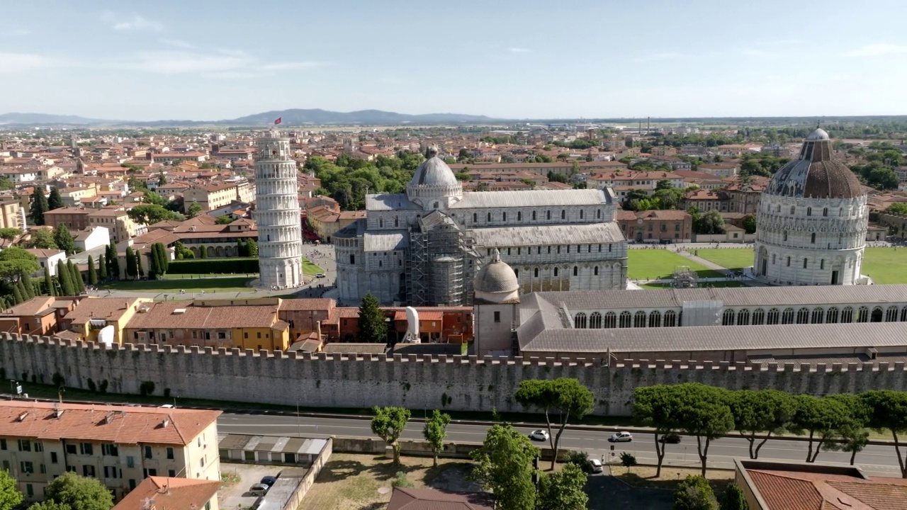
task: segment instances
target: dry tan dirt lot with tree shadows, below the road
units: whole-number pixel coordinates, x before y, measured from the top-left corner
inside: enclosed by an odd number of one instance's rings
[[[377,510],[391,500],[391,482],[398,471],[416,487],[451,491],[476,490],[466,480],[472,463],[456,459],[402,457],[393,466],[384,456],[334,454],[315,480],[298,510]]]

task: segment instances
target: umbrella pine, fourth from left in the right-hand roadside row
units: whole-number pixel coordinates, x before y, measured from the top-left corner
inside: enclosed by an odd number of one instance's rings
[[[806,462],[815,462],[823,446],[846,425],[847,407],[832,398],[797,395],[795,399],[797,409],[788,430],[798,436],[809,434]]]

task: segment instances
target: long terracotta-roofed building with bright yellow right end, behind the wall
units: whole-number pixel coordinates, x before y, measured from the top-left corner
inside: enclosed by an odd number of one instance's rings
[[[289,324],[278,318],[280,299],[196,299],[145,307],[126,325],[133,344],[287,350]]]

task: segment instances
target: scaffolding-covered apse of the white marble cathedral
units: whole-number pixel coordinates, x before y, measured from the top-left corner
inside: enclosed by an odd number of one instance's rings
[[[406,301],[414,307],[468,306],[478,254],[473,240],[444,213],[433,211],[410,228]]]

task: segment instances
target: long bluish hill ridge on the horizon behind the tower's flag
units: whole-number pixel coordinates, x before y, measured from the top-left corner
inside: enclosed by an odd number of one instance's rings
[[[382,112],[380,110],[360,110],[358,112],[328,112],[327,110],[278,110],[256,113],[220,121],[221,124],[259,125],[271,124],[282,118],[283,123],[298,124],[402,124],[402,123],[487,123],[493,121],[484,115],[463,115],[459,113],[424,113],[407,115],[405,113]]]

